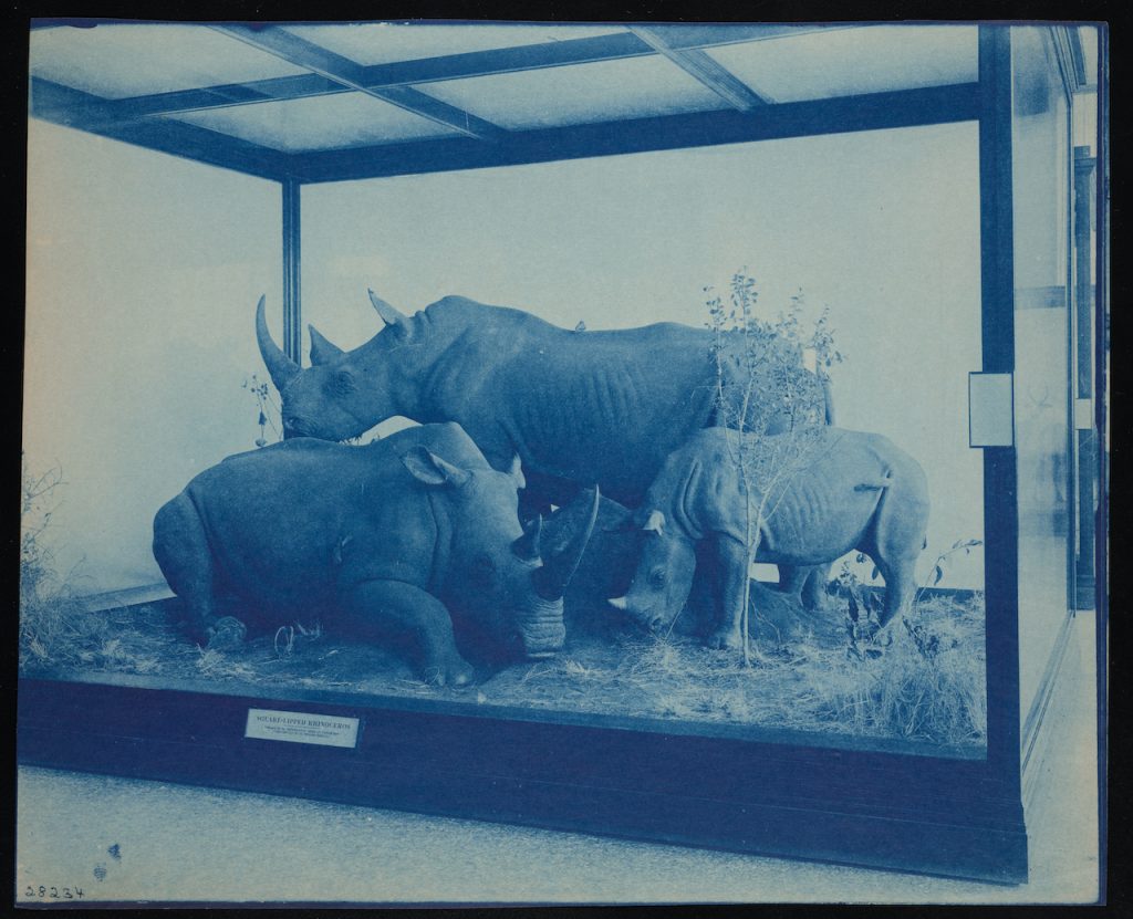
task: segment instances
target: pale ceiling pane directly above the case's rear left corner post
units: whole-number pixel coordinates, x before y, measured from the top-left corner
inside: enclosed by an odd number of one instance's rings
[[[365,93],[236,105],[174,118],[288,153],[459,135]]]

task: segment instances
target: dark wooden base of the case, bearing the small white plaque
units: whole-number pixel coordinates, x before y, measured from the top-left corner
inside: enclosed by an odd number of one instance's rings
[[[1025,878],[1017,782],[993,775],[983,759],[845,749],[829,739],[819,747],[787,732],[753,740],[673,722],[203,685],[25,679],[19,761],[1002,883]],[[358,746],[247,739],[249,707],[357,718]]]

